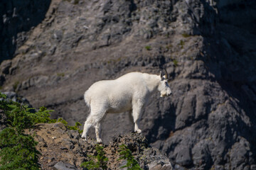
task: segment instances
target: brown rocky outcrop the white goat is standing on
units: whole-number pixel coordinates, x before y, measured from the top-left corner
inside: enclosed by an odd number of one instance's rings
[[[27,133],[38,142],[36,149],[41,152],[41,169],[82,169],[80,164],[97,153],[95,140],[85,142],[78,131],[68,130],[62,123],[41,123]],[[132,151],[143,169],[172,169],[169,159],[158,149],[148,147],[146,138],[136,133],[114,136],[109,145],[103,145],[108,169],[119,170],[127,163],[124,159],[118,160],[120,145],[126,145]]]

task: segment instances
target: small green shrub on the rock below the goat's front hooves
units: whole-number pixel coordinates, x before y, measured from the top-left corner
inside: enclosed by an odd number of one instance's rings
[[[119,159],[127,159],[127,164],[121,166],[122,169],[127,168],[127,170],[142,170],[138,162],[132,156],[131,150],[126,145],[119,146],[119,154],[121,156]]]

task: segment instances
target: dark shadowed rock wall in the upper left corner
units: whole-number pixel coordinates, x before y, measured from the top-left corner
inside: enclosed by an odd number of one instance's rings
[[[14,57],[28,39],[29,30],[45,18],[50,0],[2,0],[0,3],[0,63]]]

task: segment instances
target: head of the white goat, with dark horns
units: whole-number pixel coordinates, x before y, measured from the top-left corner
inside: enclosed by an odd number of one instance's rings
[[[164,96],[170,96],[171,95],[171,88],[168,84],[168,74],[166,72],[166,69],[164,69],[164,74],[163,72],[160,72],[160,82],[158,86],[158,90],[160,91],[161,95],[160,97]]]

